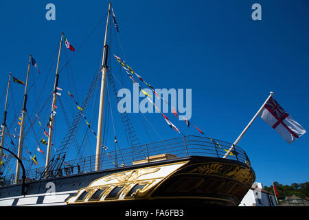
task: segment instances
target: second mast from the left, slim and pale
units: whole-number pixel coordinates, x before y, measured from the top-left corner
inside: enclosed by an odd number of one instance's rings
[[[29,78],[29,71],[30,71],[30,63],[31,63],[32,56],[29,57],[29,63],[28,63],[28,70],[27,70],[27,78],[25,83],[25,94],[23,96],[23,109],[21,111],[21,129],[19,131],[19,149],[17,152],[17,157],[21,159],[21,152],[23,151],[23,129],[25,125],[25,112],[26,110],[26,104],[27,104],[27,85],[28,85],[28,78]],[[16,173],[15,173],[15,184],[19,183],[19,170],[20,170],[20,164],[17,161],[16,162]]]

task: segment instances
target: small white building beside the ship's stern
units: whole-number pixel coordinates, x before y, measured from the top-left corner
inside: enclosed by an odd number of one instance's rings
[[[253,183],[238,206],[277,206],[275,195],[263,189],[261,183]]]

